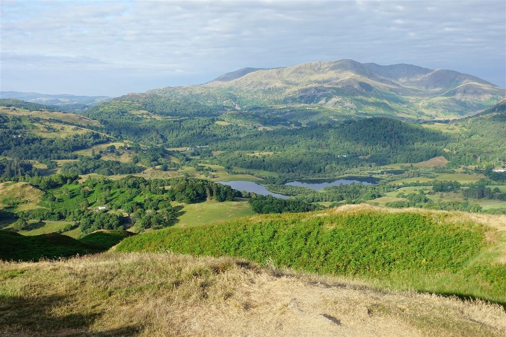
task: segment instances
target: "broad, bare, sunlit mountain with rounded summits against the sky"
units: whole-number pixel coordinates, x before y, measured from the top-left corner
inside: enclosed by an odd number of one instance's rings
[[[311,105],[336,115],[432,118],[475,114],[505,93],[490,82],[452,70],[339,60],[276,69],[244,68],[203,85],[166,87],[146,94],[231,109]]]

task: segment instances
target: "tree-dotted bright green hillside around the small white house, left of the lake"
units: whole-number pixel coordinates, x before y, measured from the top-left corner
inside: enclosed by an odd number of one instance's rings
[[[33,177],[29,182],[46,191],[42,203],[18,213],[19,219],[78,221],[83,233],[118,229],[133,224],[137,231],[171,224],[178,213],[171,201],[194,203],[205,199],[232,200],[228,185],[193,178],[152,179],[128,176],[117,181],[88,179],[79,184],[77,175]],[[106,208],[106,209],[101,209]],[[121,212],[109,212],[122,210]]]

